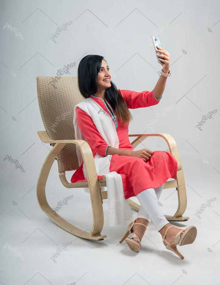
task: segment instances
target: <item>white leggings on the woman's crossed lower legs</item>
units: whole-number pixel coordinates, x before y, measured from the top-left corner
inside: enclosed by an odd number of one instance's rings
[[[137,218],[144,218],[149,223],[152,220],[158,232],[166,224],[169,224],[158,203],[164,184],[156,188],[146,189],[137,194],[137,199],[140,202],[140,210]]]

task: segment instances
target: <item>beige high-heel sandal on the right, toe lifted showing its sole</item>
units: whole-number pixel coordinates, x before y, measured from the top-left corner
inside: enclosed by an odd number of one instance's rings
[[[166,232],[165,232],[165,235],[164,237],[162,238],[162,241],[167,244],[166,245],[166,248],[173,251],[175,254],[177,254],[181,259],[183,259],[183,255],[178,251],[178,249],[176,248],[177,245],[179,246],[184,246],[186,244],[190,244],[190,243],[193,243],[195,238],[196,238],[196,235],[197,235],[197,229],[196,227],[194,226],[191,226],[189,228],[187,228],[184,233],[182,235],[181,232],[178,232],[178,234],[175,236],[175,239],[174,239],[174,242],[172,243],[169,243],[169,241],[167,241],[165,238],[166,238],[166,234],[167,234],[167,231],[168,229],[170,229],[171,227],[174,227],[174,226],[170,226],[167,228]]]

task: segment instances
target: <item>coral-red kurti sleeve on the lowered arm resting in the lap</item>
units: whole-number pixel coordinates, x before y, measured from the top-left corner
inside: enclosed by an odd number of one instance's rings
[[[88,141],[91,149],[101,156],[107,156],[107,148],[110,145],[105,143],[103,137],[99,134],[92,118],[79,107],[76,108],[77,123],[81,132]]]

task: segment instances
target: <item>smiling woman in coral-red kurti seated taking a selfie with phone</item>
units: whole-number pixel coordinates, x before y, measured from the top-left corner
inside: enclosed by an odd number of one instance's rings
[[[151,151],[143,148],[133,151],[129,141],[128,126],[132,115],[129,109],[157,105],[162,98],[165,89],[167,75],[170,74],[170,55],[157,47],[160,53],[160,61],[163,66],[161,75],[155,88],[150,91],[135,92],[131,90],[117,89],[111,81],[111,73],[103,56],[87,55],[79,63],[78,86],[80,93],[85,98],[93,99],[104,109],[114,124],[118,135],[119,147],[113,148],[107,145],[99,134],[92,118],[79,107],[76,108],[77,123],[91,147],[93,156],[111,155],[110,172],[117,172],[122,176],[124,197],[136,196],[140,202],[140,210],[137,219],[127,229],[120,243],[125,239],[133,251],[141,248],[141,239],[148,223],[152,220],[157,231],[162,235],[162,240],[167,249],[175,252],[181,259],[176,246],[193,243],[197,229],[191,226],[180,229],[171,226],[164,217],[158,200],[164,183],[169,178],[176,178],[177,161],[167,151]],[[103,111],[103,110],[102,110]],[[106,130],[107,131],[107,130]],[[156,159],[160,157],[159,163]],[[84,180],[83,164],[77,169],[71,178],[71,183]]]

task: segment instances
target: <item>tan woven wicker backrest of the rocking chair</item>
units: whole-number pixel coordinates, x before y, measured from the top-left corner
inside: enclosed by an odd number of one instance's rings
[[[74,107],[85,100],[77,77],[37,77],[37,98],[46,132],[52,140],[75,140]],[[54,145],[54,144],[53,144]],[[79,167],[76,145],[68,143],[58,154],[58,172]]]

